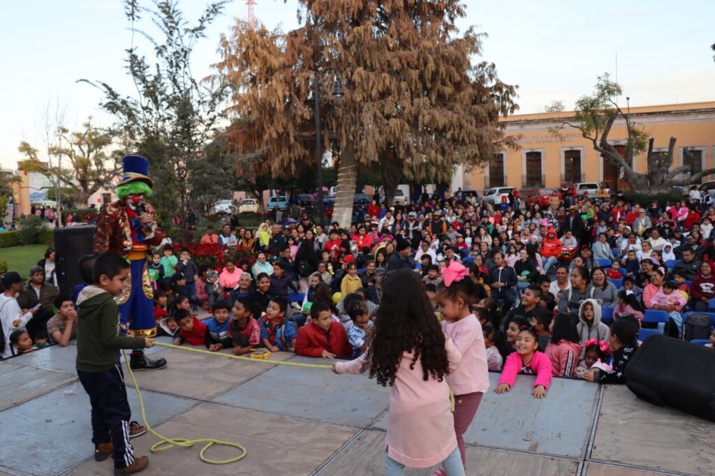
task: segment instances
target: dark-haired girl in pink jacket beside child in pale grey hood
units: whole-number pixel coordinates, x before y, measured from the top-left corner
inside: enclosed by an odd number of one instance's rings
[[[578,357],[583,346],[578,343],[578,330],[571,319],[571,314],[559,313],[549,327],[551,342],[544,353],[551,360],[553,377],[575,377]]]

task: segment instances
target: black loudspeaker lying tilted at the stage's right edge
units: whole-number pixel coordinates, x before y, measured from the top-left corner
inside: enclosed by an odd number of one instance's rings
[[[715,422],[715,349],[664,335],[641,345],[626,367],[626,386],[654,405]]]

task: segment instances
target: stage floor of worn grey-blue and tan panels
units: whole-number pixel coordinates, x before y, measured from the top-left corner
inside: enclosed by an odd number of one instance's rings
[[[168,339],[162,339],[169,342]],[[169,365],[138,372],[157,432],[212,437],[248,450],[232,465],[208,466],[200,447],[149,453],[145,475],[381,475],[388,389],[364,376],[237,362],[154,347]],[[0,362],[0,475],[110,475],[95,462],[89,400],[74,372],[76,348],[51,347]],[[291,362],[323,363],[279,352]],[[129,376],[127,375],[127,378]],[[469,475],[715,474],[715,425],[638,400],[626,387],[555,379],[543,400],[533,377],[511,392],[488,392],[465,441]],[[490,375],[492,386],[498,374]],[[127,386],[134,420],[137,395]],[[231,457],[217,448],[209,457]],[[429,475],[410,470],[408,475]]]

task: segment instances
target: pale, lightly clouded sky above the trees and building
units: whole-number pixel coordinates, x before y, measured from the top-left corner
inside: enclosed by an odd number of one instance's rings
[[[257,0],[256,15],[273,28],[297,26],[297,1]],[[339,1],[339,0],[335,0]],[[489,37],[484,56],[503,81],[518,84],[521,113],[558,99],[567,108],[593,88],[603,72],[616,75],[631,106],[715,99],[715,1],[604,0],[597,4],[556,0],[465,0],[460,28],[478,26]],[[181,0],[187,17],[198,0]],[[47,104],[66,110],[66,125],[87,116],[107,125],[102,95],[77,79],[101,79],[126,94],[135,91],[125,73],[124,49],[132,37],[121,0],[3,1],[0,7],[0,164],[14,169],[17,146],[39,146],[38,120]],[[205,76],[217,59],[220,33],[246,18],[245,0],[230,4],[196,49],[194,74]],[[137,41],[135,39],[135,41]],[[149,53],[144,46],[143,51]]]

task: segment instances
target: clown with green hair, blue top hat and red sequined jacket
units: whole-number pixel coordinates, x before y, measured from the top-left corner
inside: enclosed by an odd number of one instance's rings
[[[122,159],[124,174],[115,190],[119,200],[102,205],[94,232],[94,251],[112,252],[127,258],[131,265],[129,288],[117,298],[122,332],[131,329],[134,337],[154,337],[154,289],[147,269],[149,246],[162,242],[154,208],[144,202],[152,194],[149,161],[129,155]],[[142,349],[134,349],[129,362],[132,370],[161,369],[165,359],[151,360]]]

